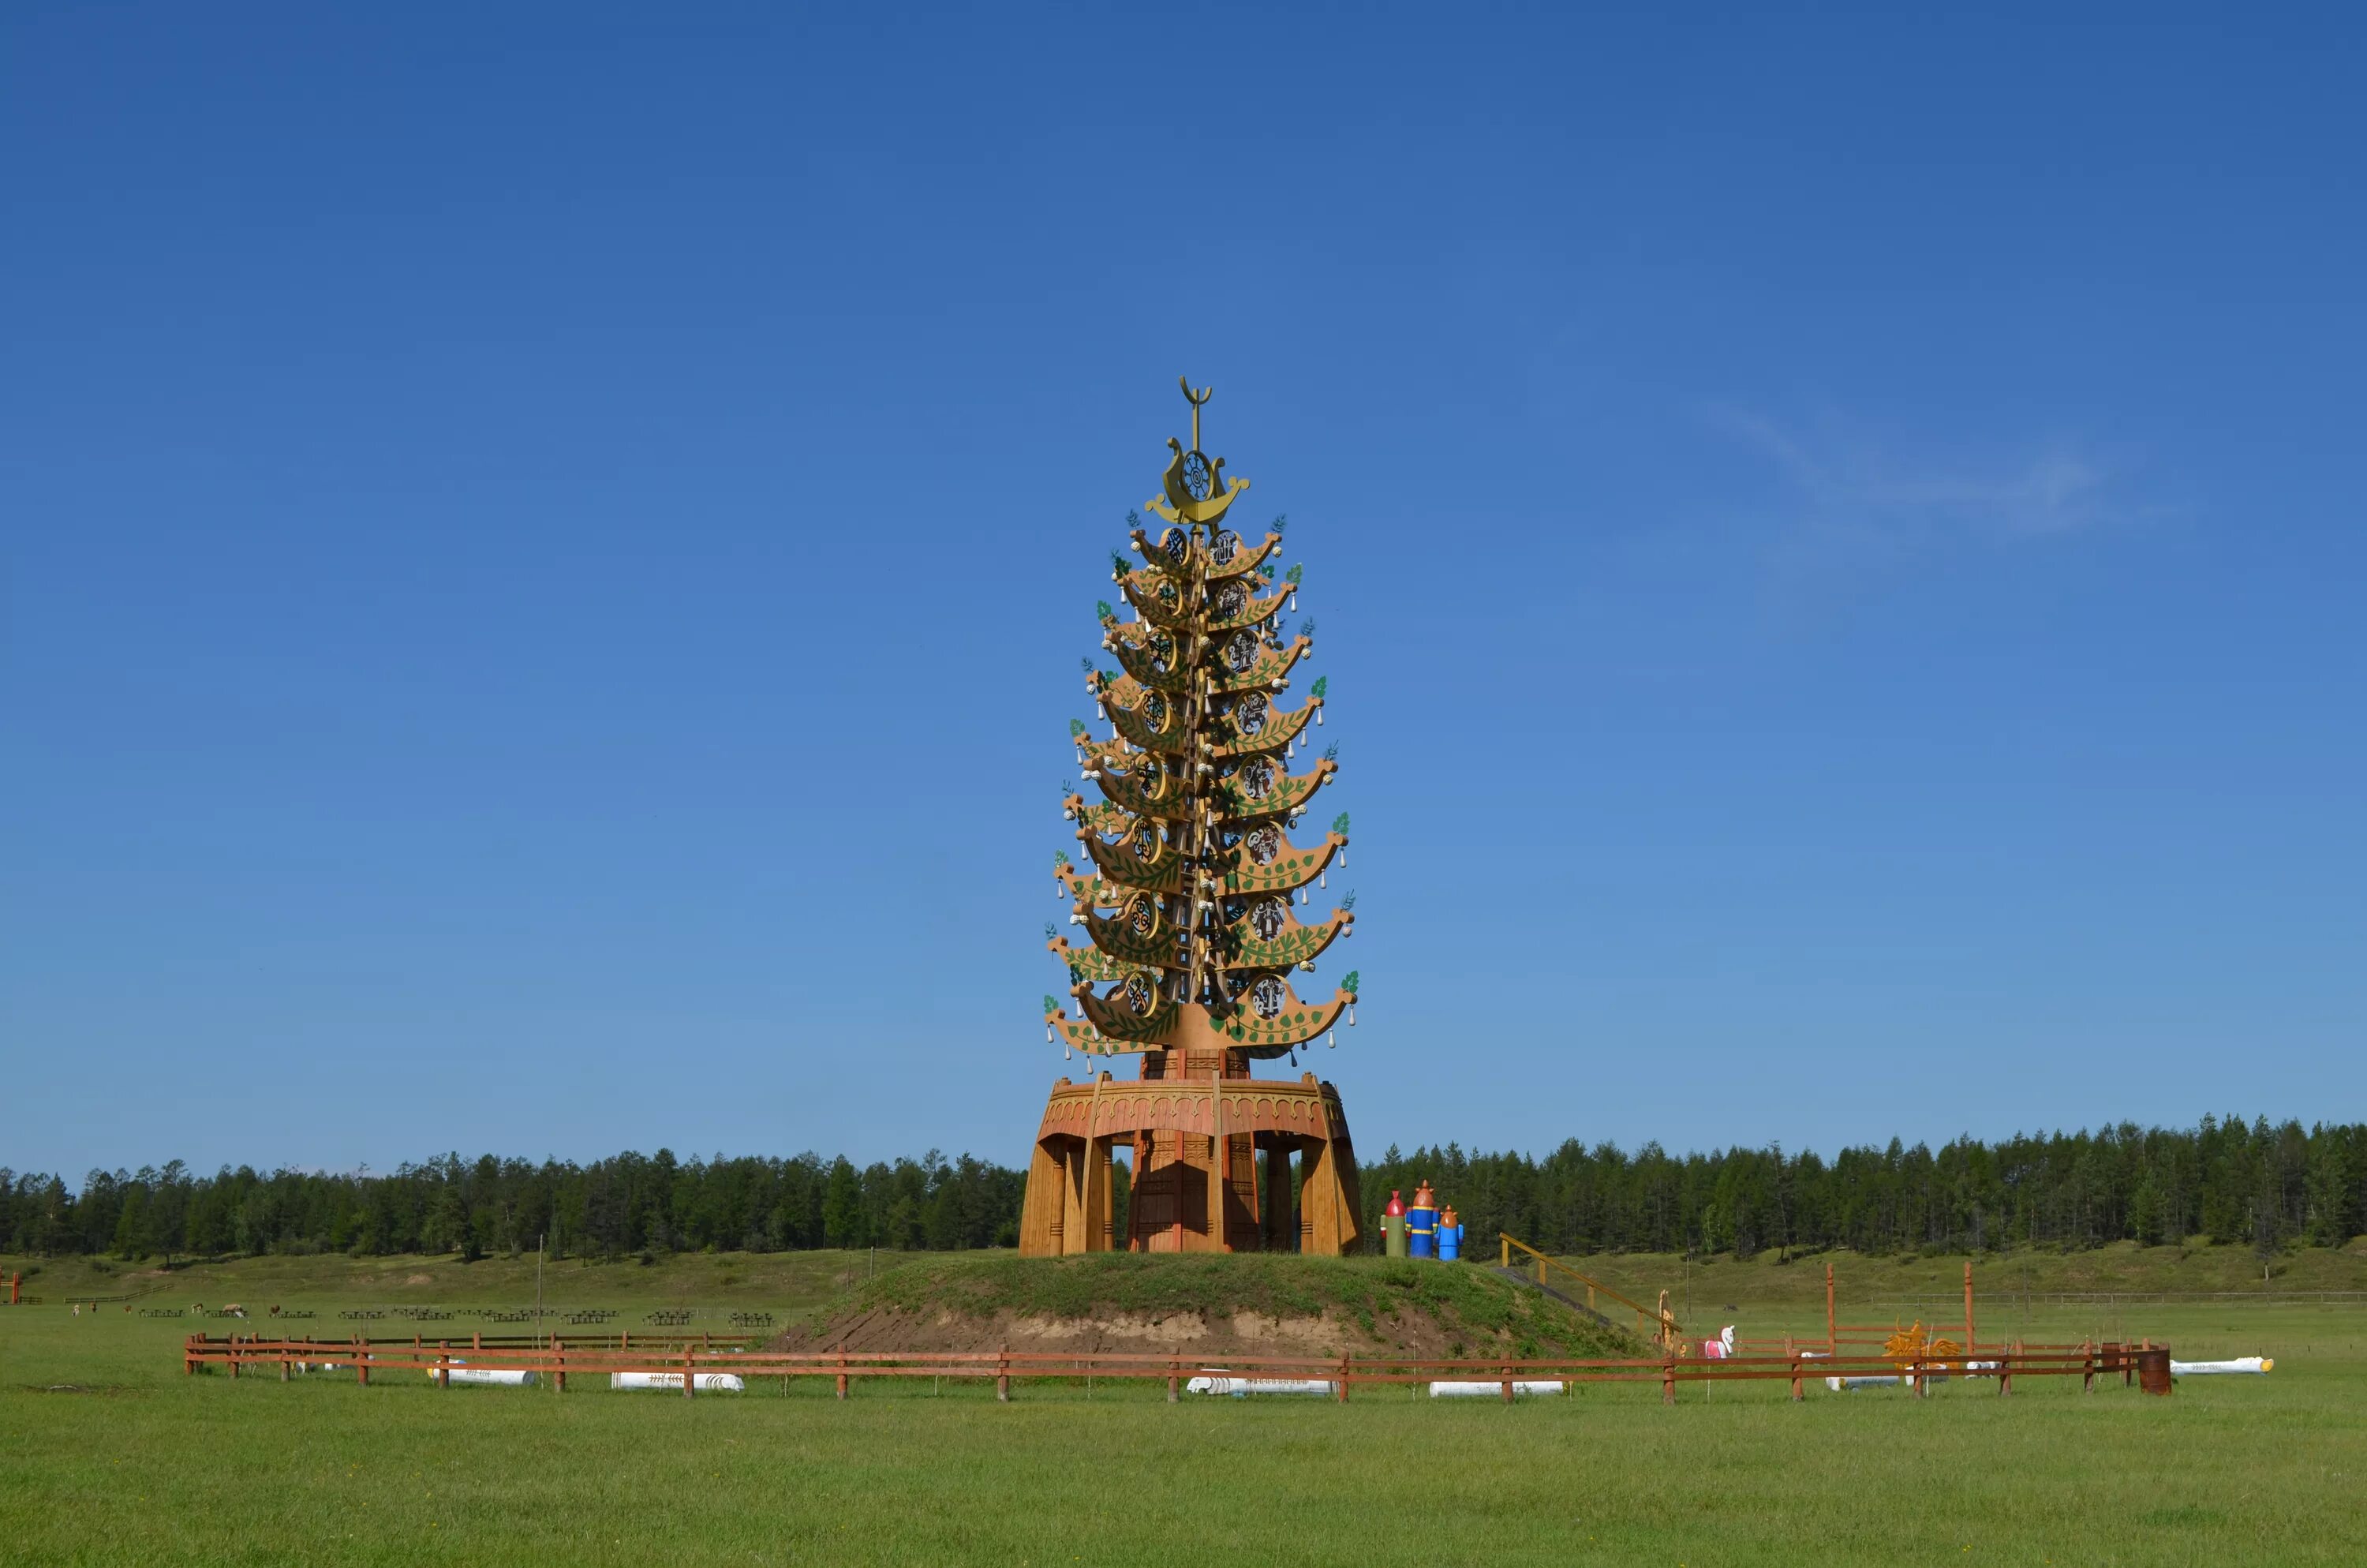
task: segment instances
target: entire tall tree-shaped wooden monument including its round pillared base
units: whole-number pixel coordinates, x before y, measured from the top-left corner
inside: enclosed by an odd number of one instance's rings
[[[1224,476],[1224,457],[1193,443],[1174,455],[1153,538],[1134,514],[1141,566],[1110,557],[1134,616],[1101,604],[1101,647],[1117,670],[1086,661],[1086,689],[1108,727],[1070,725],[1084,779],[1101,801],[1063,801],[1084,857],[1053,857],[1072,945],[1046,926],[1068,966],[1077,1016],[1044,997],[1044,1030],[1086,1056],[1141,1056],[1117,1082],[1063,1078],[1044,1108],[1027,1168],[1020,1253],[1304,1251],[1356,1246],[1356,1156],[1340,1094],[1314,1073],[1255,1080],[1252,1061],[1290,1056],[1356,1021],[1356,976],[1326,1002],[1302,1002],[1290,971],[1349,936],[1354,895],[1307,924],[1292,910],[1344,862],[1347,817],[1316,843],[1290,829],[1340,765],[1326,751],[1304,775],[1290,758],[1323,722],[1323,680],[1281,708],[1290,670],[1314,651],[1314,623],[1283,642],[1297,609],[1299,568],[1278,573],[1285,519],[1247,545],[1224,514],[1250,488]],[[1112,1234],[1110,1156],[1134,1151],[1127,1234]],[[1290,1156],[1299,1156],[1292,1177]],[[1264,1158],[1259,1158],[1264,1156]]]

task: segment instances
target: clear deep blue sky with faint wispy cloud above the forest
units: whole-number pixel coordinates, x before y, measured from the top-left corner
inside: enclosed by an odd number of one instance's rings
[[[0,28],[0,1163],[1018,1163],[1181,372],[1359,1144],[2367,1113],[2350,12]]]

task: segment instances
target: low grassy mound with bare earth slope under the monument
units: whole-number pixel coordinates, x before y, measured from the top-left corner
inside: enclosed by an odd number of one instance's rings
[[[1257,1343],[1349,1355],[1636,1355],[1636,1341],[1477,1265],[1228,1253],[928,1255],[802,1343]]]

